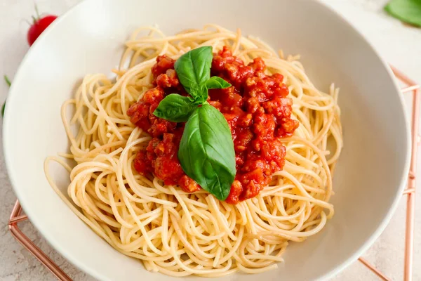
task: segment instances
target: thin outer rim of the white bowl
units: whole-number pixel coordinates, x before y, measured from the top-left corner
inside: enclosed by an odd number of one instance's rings
[[[60,22],[64,21],[66,18],[69,17],[69,15],[71,15],[72,13],[74,13],[75,11],[77,11],[79,8],[82,8],[82,6],[87,5],[90,2],[93,1],[98,1],[98,0],[83,0],[77,4],[75,4],[74,6],[72,6],[71,8],[69,8],[65,13],[63,13],[62,15],[60,15],[39,37],[39,39],[37,39],[33,46],[36,46],[38,44],[40,44],[41,41],[43,41],[43,38],[48,36],[48,34],[51,32],[51,30],[53,30],[53,28],[55,28],[56,25],[58,25]],[[305,0],[296,0],[296,1],[302,1],[305,2]],[[403,169],[401,169],[401,180],[399,183],[399,188],[396,189],[396,195],[394,196],[394,200],[389,208],[389,210],[387,211],[387,213],[385,214],[384,218],[382,218],[382,221],[380,222],[379,226],[377,227],[377,229],[370,235],[370,237],[368,238],[368,240],[366,240],[366,242],[364,242],[363,244],[361,244],[361,246],[356,249],[356,251],[354,251],[354,254],[350,255],[345,261],[343,261],[342,263],[340,263],[338,266],[335,266],[333,269],[331,269],[330,271],[324,273],[323,275],[321,275],[321,277],[319,277],[319,280],[328,280],[330,278],[332,278],[333,276],[337,275],[338,273],[340,273],[342,270],[344,270],[345,268],[347,268],[351,263],[353,263],[354,261],[356,261],[356,259],[358,259],[364,252],[366,252],[368,250],[368,248],[375,242],[375,240],[378,239],[378,237],[382,234],[382,232],[385,230],[386,226],[389,224],[389,221],[391,220],[393,214],[395,213],[397,206],[399,204],[399,200],[401,199],[401,195],[403,194],[403,189],[406,185],[406,179],[408,176],[408,172],[409,172],[409,167],[410,167],[410,152],[411,152],[411,132],[410,132],[410,122],[409,122],[409,117],[408,117],[408,110],[406,109],[406,105],[405,105],[405,101],[403,100],[403,94],[401,93],[401,90],[399,88],[399,85],[397,83],[396,77],[394,76],[391,68],[389,67],[389,65],[385,62],[385,60],[382,58],[382,56],[376,51],[376,49],[374,48],[373,44],[370,43],[370,41],[368,41],[366,39],[366,37],[363,36],[363,34],[361,34],[361,32],[352,24],[352,22],[349,22],[346,18],[344,18],[344,16],[342,16],[340,13],[338,13],[338,11],[335,11],[333,8],[331,8],[330,6],[328,6],[328,4],[321,2],[320,0],[315,1],[316,4],[319,4],[319,6],[321,6],[322,8],[328,10],[329,13],[335,15],[335,17],[338,20],[341,20],[345,25],[347,25],[351,30],[354,30],[354,32],[356,32],[356,34],[358,35],[358,37],[360,37],[360,39],[362,41],[364,41],[367,45],[368,48],[371,49],[371,51],[373,52],[373,55],[376,55],[377,58],[380,60],[380,62],[382,63],[382,66],[385,68],[385,70],[387,71],[387,73],[389,74],[390,79],[392,79],[392,83],[394,84],[395,87],[395,91],[396,94],[399,96],[399,100],[400,100],[400,107],[401,110],[403,111],[403,119],[405,120],[405,131],[406,131],[406,155],[405,155],[405,165],[403,166]],[[15,74],[15,78],[16,77],[20,77],[22,70],[22,65],[25,65],[26,60],[31,56],[32,54],[32,50],[34,48],[29,48],[29,51],[27,51],[27,53],[25,54],[24,58],[22,59],[18,70]],[[11,88],[9,89],[8,92],[8,100],[11,100],[13,98],[15,98],[15,96],[18,96],[18,93],[15,93],[14,89],[15,89],[15,84],[12,84]],[[76,266],[76,268],[79,268],[79,270],[83,271],[84,273],[88,273],[88,275],[91,275],[92,277],[95,277],[99,280],[109,280],[108,277],[102,275],[100,272],[98,272],[98,270],[94,270],[93,268],[88,268],[86,266],[84,266],[83,263],[79,262],[76,259],[76,256],[72,256],[70,254],[68,254],[65,249],[62,249],[62,247],[60,247],[60,244],[55,243],[55,240],[51,237],[51,235],[49,235],[48,230],[46,230],[46,228],[42,228],[39,226],[39,220],[42,218],[37,218],[34,214],[31,214],[30,211],[27,212],[27,200],[29,200],[29,198],[25,199],[25,195],[22,194],[22,192],[20,192],[20,188],[17,188],[17,184],[15,183],[15,171],[13,171],[12,169],[12,164],[11,164],[11,157],[13,157],[13,155],[11,155],[11,153],[8,152],[8,147],[11,145],[10,143],[13,142],[13,140],[10,139],[10,137],[8,137],[8,134],[6,133],[7,131],[10,131],[11,129],[9,129],[9,127],[11,126],[9,123],[9,118],[8,118],[8,112],[9,112],[10,108],[6,106],[5,109],[5,114],[4,114],[4,122],[3,122],[3,150],[4,150],[4,162],[6,164],[6,171],[8,174],[8,178],[9,181],[11,182],[12,188],[13,188],[13,192],[15,192],[16,197],[18,197],[18,200],[22,206],[22,209],[25,210],[25,213],[27,214],[29,221],[31,221],[32,225],[36,228],[37,231],[39,231],[39,233],[41,233],[42,237],[45,238],[45,240],[48,242],[48,244],[50,244],[53,249],[55,249],[55,251],[58,251],[58,253],[60,255],[62,255],[63,257],[65,257],[65,259],[67,261],[69,261],[69,263],[72,263],[72,265]]]

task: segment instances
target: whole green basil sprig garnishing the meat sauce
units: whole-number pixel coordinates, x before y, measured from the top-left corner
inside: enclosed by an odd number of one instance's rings
[[[236,173],[234,143],[224,115],[206,99],[208,89],[225,89],[231,84],[220,77],[210,78],[212,58],[210,46],[180,56],[175,72],[191,97],[168,95],[154,115],[171,122],[187,122],[178,150],[182,169],[201,188],[225,200]]]

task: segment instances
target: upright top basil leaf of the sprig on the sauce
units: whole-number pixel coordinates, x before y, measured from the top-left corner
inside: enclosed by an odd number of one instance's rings
[[[174,68],[178,79],[180,79],[187,93],[195,100],[198,100],[205,94],[204,91],[206,89],[204,85],[210,78],[212,58],[212,47],[204,46],[188,51],[175,61]]]

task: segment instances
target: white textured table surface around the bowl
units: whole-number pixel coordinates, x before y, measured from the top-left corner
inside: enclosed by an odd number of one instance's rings
[[[80,0],[38,0],[41,13],[60,15]],[[292,0],[291,0],[292,1]],[[375,46],[389,63],[406,72],[421,83],[421,29],[406,27],[398,20],[389,18],[382,7],[387,0],[323,0],[352,22]],[[32,0],[0,0],[0,74],[8,74],[13,80],[20,60],[27,52],[25,19],[34,15]],[[0,82],[0,102],[6,98],[8,87]],[[409,99],[407,98],[407,101]],[[409,105],[409,104],[408,104]],[[0,121],[1,129],[1,121]],[[23,249],[8,232],[8,216],[16,200],[8,181],[0,137],[0,280],[55,280],[28,251]],[[421,152],[419,153],[421,159]],[[420,161],[419,161],[420,162]],[[25,167],[23,167],[25,169]],[[418,169],[417,176],[421,176]],[[417,189],[421,191],[421,178]],[[421,280],[421,192],[417,193],[415,221],[415,252],[413,280]],[[40,245],[53,261],[58,263],[74,280],[93,280],[69,264],[40,237],[28,222],[21,223],[24,233]],[[380,238],[364,257],[382,270],[392,280],[402,280],[403,237],[405,233],[405,200]],[[334,280],[377,280],[367,268],[356,261]]]

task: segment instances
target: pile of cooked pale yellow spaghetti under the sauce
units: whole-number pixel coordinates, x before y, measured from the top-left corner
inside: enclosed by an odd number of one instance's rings
[[[166,37],[155,27],[136,30],[110,80],[87,75],[73,99],[62,105],[69,153],[48,157],[49,183],[67,205],[114,249],[140,259],[147,270],[166,275],[220,277],[236,271],[276,268],[289,241],[319,233],[333,216],[332,173],[342,148],[338,89],[314,87],[298,57],[283,58],[255,37],[242,37],[217,25]],[[182,191],[156,176],[142,176],[133,161],[151,140],[133,125],[128,108],[152,88],[158,55],[177,59],[199,46],[229,46],[249,63],[260,57],[267,72],[280,73],[300,123],[280,138],[286,163],[272,182],[251,199],[228,204],[204,190]],[[68,107],[74,107],[67,119]],[[74,126],[77,133],[73,133]],[[330,151],[332,150],[332,151]],[[63,157],[74,159],[69,166]],[[51,161],[69,171],[69,199],[48,174]]]

